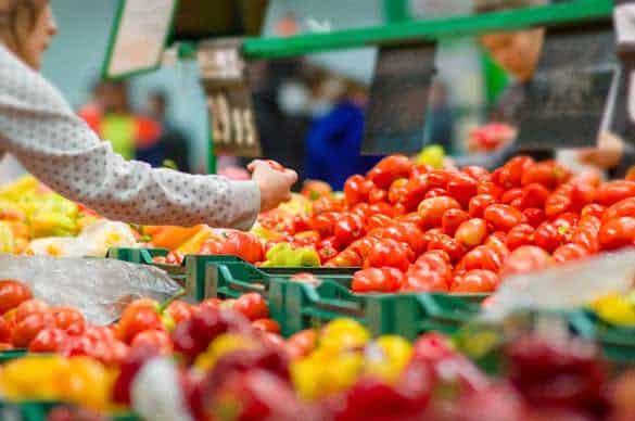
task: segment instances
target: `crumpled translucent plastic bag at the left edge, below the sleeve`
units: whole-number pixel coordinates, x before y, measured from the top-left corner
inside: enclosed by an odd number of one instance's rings
[[[96,324],[115,321],[132,299],[163,302],[181,290],[161,269],[99,258],[0,254],[0,279],[28,284],[50,305],[77,307]]]

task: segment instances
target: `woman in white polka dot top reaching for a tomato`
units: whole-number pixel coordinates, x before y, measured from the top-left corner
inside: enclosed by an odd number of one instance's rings
[[[264,161],[250,165],[251,180],[231,181],[115,153],[37,73],[56,33],[50,1],[0,0],[0,155],[13,154],[67,199],[130,224],[249,229],[259,212],[290,199],[295,173]],[[115,97],[122,104],[122,91]]]

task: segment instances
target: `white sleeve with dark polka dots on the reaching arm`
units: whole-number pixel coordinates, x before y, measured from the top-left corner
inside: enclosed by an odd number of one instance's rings
[[[259,210],[259,190],[252,181],[125,161],[54,87],[0,46],[2,150],[50,188],[111,219],[249,229]]]

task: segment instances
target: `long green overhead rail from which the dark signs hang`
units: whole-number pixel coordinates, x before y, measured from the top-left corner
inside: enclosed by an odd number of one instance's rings
[[[304,34],[289,38],[250,38],[243,53],[250,59],[275,59],[384,43],[436,40],[536,26],[573,25],[611,16],[613,0],[577,0],[531,9],[507,10],[439,21],[414,21],[385,26]],[[391,12],[392,13],[392,12]]]

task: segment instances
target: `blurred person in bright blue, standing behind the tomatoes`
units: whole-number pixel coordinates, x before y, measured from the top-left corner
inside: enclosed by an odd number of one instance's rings
[[[318,85],[306,137],[305,176],[342,190],[354,174],[365,174],[381,157],[361,155],[366,87],[330,76]]]

